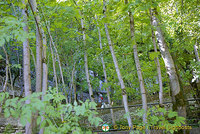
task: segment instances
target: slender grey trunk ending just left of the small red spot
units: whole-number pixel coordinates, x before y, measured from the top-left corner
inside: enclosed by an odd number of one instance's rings
[[[90,82],[90,75],[89,75],[89,70],[88,70],[88,58],[87,58],[87,49],[86,49],[87,46],[86,46],[85,27],[84,27],[83,17],[81,18],[81,26],[82,26],[83,44],[84,44],[85,75],[86,75],[87,84],[88,84],[88,88],[89,88],[90,99],[91,99],[91,101],[94,101],[94,95],[93,95],[93,91],[92,91],[92,86],[91,86],[91,82]]]

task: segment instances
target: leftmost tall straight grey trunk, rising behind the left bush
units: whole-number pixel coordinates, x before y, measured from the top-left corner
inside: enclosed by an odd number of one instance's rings
[[[22,1],[23,4],[26,5],[24,0]],[[28,34],[28,24],[27,24],[27,8],[25,7],[22,9],[22,14],[24,17],[24,23],[26,24],[23,27],[23,30],[26,34]],[[30,77],[30,51],[29,51],[29,40],[28,38],[23,42],[23,61],[24,61],[24,90],[25,96],[31,95],[31,77]],[[26,104],[29,104],[30,100],[26,100]],[[32,134],[32,122],[27,122],[25,126],[25,133]]]

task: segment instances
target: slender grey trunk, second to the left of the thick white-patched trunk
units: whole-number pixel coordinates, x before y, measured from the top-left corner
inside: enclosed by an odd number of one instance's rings
[[[128,2],[126,1],[126,3],[128,3]],[[144,109],[143,123],[146,125],[147,124],[147,97],[146,97],[146,90],[145,90],[145,86],[144,86],[144,80],[142,77],[140,61],[139,61],[138,52],[137,52],[137,44],[135,42],[134,18],[133,18],[131,11],[129,11],[129,18],[130,18],[131,40],[133,42],[133,53],[134,53],[134,59],[135,59],[138,80],[140,83],[141,96],[142,96],[142,109]],[[148,129],[146,129],[146,134],[147,133],[149,133]]]

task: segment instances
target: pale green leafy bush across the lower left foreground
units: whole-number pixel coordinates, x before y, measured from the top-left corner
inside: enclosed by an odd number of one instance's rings
[[[78,105],[61,104],[65,97],[61,93],[57,93],[55,89],[50,90],[43,100],[39,99],[42,93],[33,93],[30,96],[19,99],[8,99],[6,93],[1,93],[1,104],[3,104],[5,117],[14,117],[20,119],[20,123],[25,126],[27,122],[31,121],[33,113],[38,112],[37,125],[44,128],[44,133],[74,133],[85,134],[92,133],[88,126],[97,127],[102,119],[96,117],[96,103],[81,102]],[[50,100],[53,100],[53,104]],[[26,104],[26,102],[30,102]],[[94,109],[94,110],[91,110]],[[43,120],[42,120],[43,118]],[[83,126],[83,119],[86,119],[86,126]]]

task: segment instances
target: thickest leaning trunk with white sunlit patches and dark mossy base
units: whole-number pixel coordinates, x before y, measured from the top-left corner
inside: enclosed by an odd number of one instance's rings
[[[152,24],[156,28],[155,34],[156,34],[158,46],[160,48],[160,52],[164,60],[165,67],[167,69],[167,74],[169,75],[169,79],[170,79],[173,110],[177,111],[179,116],[183,116],[186,118],[185,98],[183,96],[182,89],[180,88],[180,83],[178,80],[177,72],[175,70],[174,61],[168,50],[162,30],[159,26],[159,21],[156,18],[157,11],[156,9],[154,10],[151,9],[151,12],[152,12]],[[182,133],[182,132],[178,131],[178,133]]]

